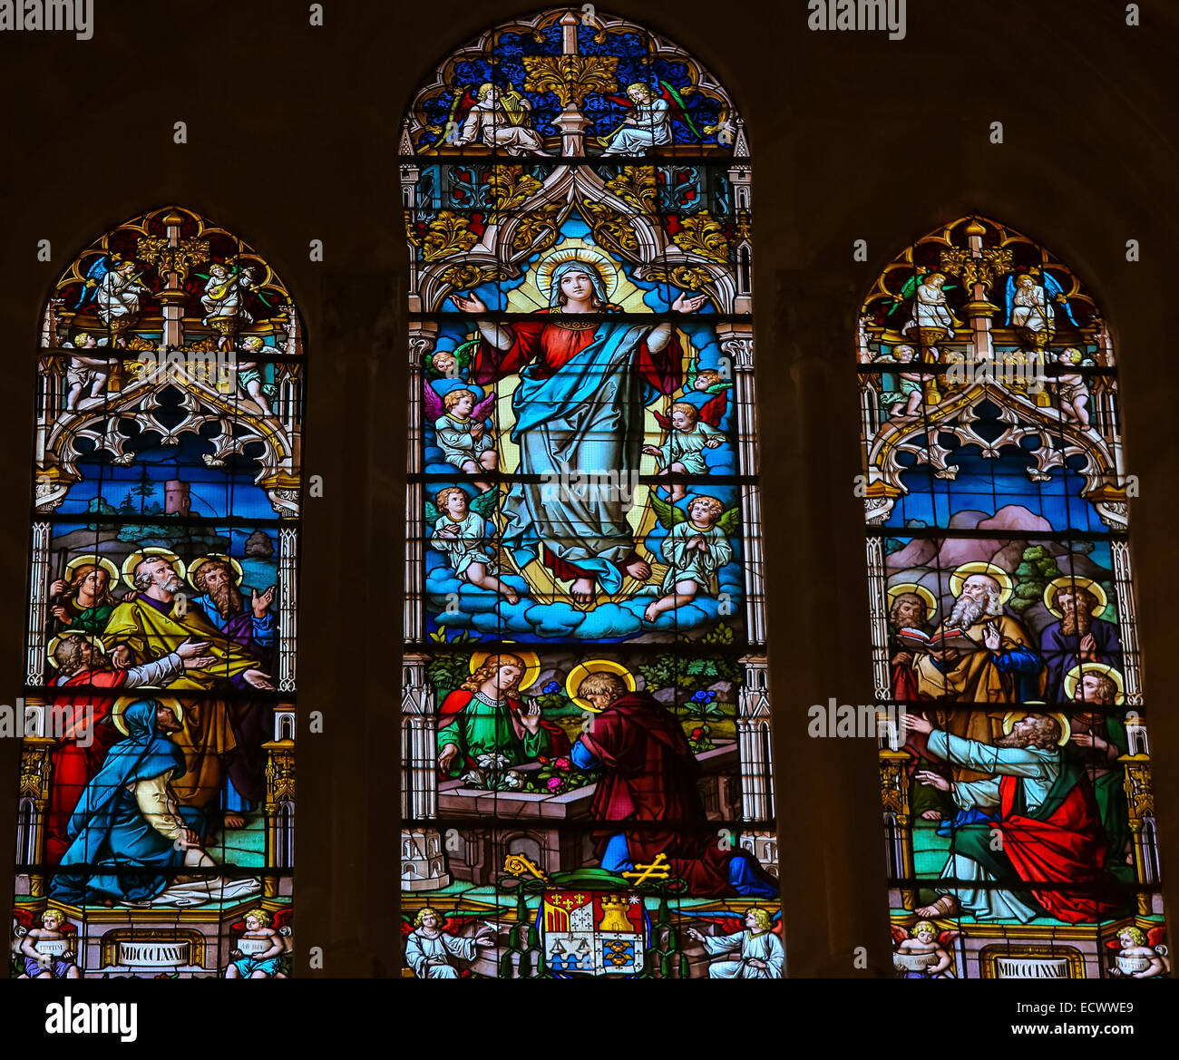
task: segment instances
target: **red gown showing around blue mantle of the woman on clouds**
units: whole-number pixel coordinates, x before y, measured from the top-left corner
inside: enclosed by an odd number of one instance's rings
[[[546,318],[546,315],[552,317]],[[473,383],[486,386],[507,375],[519,373],[521,368],[532,364],[536,378],[548,378],[564,368],[569,360],[581,353],[597,337],[597,325],[592,328],[562,328],[552,320],[577,321],[577,315],[562,317],[549,309],[541,309],[519,320],[512,321],[515,342],[501,350],[483,340],[475,353],[470,369]],[[658,354],[647,349],[644,340],[639,343],[632,368],[660,394],[674,394],[683,383],[683,350],[679,338],[672,333],[671,341]],[[585,577],[586,572],[561,557],[544,549],[544,564],[555,578],[572,581]],[[619,567],[625,567],[634,558],[627,557]]]

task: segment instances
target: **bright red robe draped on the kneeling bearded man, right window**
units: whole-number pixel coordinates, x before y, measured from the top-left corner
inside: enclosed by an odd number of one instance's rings
[[[1101,815],[1084,771],[1078,770],[1068,794],[1042,821],[1016,810],[1021,791],[1019,777],[999,782],[1002,850],[1020,878],[1088,888],[1078,893],[1029,887],[1036,902],[1065,923],[1091,923],[1119,911],[1124,903],[1112,894],[1112,881],[1104,870],[1107,848]]]

